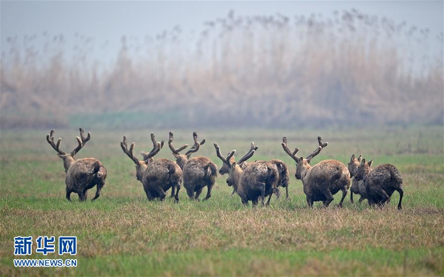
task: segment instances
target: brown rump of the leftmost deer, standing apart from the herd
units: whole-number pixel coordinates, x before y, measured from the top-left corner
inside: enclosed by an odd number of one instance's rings
[[[99,160],[78,159],[66,172],[65,183],[72,192],[79,193],[101,183],[106,175],[106,169]]]

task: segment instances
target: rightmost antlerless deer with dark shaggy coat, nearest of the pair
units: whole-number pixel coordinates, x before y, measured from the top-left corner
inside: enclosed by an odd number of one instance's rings
[[[355,180],[364,183],[368,204],[370,206],[385,205],[396,190],[400,195],[398,209],[402,210],[404,189],[400,172],[391,164],[381,164],[372,170],[370,168],[372,161],[366,162],[363,159],[355,172]]]

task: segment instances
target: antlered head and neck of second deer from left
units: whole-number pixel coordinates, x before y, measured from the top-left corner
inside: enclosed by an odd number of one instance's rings
[[[128,149],[128,144],[126,140],[126,136],[123,136],[123,140],[121,141],[120,145],[122,147],[123,152],[134,162],[136,165],[136,177],[137,180],[142,182],[143,173],[147,169],[148,165],[153,161],[153,157],[159,153],[159,151],[162,148],[163,140],[162,142],[157,142],[155,139],[155,136],[153,133],[151,133],[151,140],[153,141],[153,149],[149,153],[141,152],[143,156],[143,160],[139,160],[134,156],[134,146],[136,145],[134,142],[131,143]]]

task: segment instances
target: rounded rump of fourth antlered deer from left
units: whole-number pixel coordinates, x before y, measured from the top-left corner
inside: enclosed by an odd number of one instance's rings
[[[269,196],[276,191],[278,179],[279,172],[272,163],[265,161],[249,163],[242,173],[238,194],[242,201],[252,201],[256,204],[262,195],[263,184],[265,184],[265,196]]]

